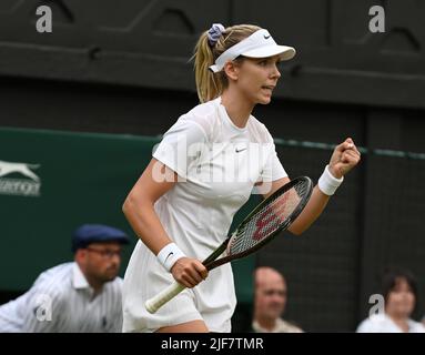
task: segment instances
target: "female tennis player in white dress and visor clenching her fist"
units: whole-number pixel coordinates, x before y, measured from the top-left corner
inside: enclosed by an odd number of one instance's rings
[[[124,277],[124,332],[231,331],[231,264],[208,275],[201,260],[226,237],[254,187],[269,196],[290,181],[271,134],[251,113],[270,103],[279,63],[294,54],[250,24],[213,24],[200,37],[194,69],[201,103],[165,132],[123,204],[140,237]],[[335,148],[292,233],[317,219],[358,161],[352,139]],[[145,301],[174,280],[189,288],[150,314]]]

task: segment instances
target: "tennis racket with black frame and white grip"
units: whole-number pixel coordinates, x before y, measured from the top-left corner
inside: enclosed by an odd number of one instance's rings
[[[247,256],[273,240],[279,232],[286,230],[307,204],[313,183],[307,176],[300,176],[280,187],[263,200],[202,263],[211,271],[233,260]],[[220,257],[224,252],[225,255]],[[220,257],[220,258],[219,258]],[[185,288],[174,282],[158,295],[145,302],[148,312],[155,313]]]

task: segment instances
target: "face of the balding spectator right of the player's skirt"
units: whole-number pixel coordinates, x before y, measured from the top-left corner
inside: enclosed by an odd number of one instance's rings
[[[255,292],[255,311],[257,317],[276,320],[286,305],[286,284],[282,276],[267,271],[257,274]]]

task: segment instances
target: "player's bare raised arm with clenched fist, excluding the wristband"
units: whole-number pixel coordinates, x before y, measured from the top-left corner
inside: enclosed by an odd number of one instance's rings
[[[334,149],[328,163],[330,172],[334,178],[341,179],[355,165],[357,165],[360,159],[361,154],[357,148],[355,146],[353,140],[348,138]],[[266,190],[267,193],[264,193],[263,196],[270,196],[273,192],[275,192],[277,189],[280,189],[289,182],[289,178],[283,178],[271,182],[270,189]],[[307,205],[298,215],[298,217],[291,224],[289,231],[296,235],[306,231],[312,225],[312,223],[322,214],[327,202],[330,201],[330,195],[323,193],[318,189],[318,185],[316,185],[313,190],[312,196]]]

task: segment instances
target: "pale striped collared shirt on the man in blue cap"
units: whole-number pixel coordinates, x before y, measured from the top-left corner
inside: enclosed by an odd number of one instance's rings
[[[0,333],[103,333],[122,331],[122,280],[94,297],[77,263],[54,266],[14,301],[0,306]]]

